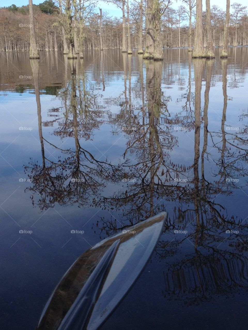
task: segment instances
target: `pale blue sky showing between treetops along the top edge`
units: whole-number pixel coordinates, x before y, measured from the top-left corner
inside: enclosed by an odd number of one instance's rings
[[[33,4],[38,5],[39,3],[43,2],[44,0],[33,0]],[[129,3],[131,3],[132,0],[129,1]],[[243,6],[247,6],[247,0],[230,0],[230,4],[232,5],[234,2],[238,2],[241,3]],[[0,6],[1,7],[6,7],[6,6],[10,6],[12,4],[15,4],[17,6],[23,6],[23,5],[28,5],[28,0],[0,0]],[[205,9],[205,1],[202,1],[203,4],[203,10]],[[184,5],[184,3],[180,0],[173,1],[172,7],[173,8],[178,8],[180,5]],[[210,5],[217,5],[220,8],[222,8],[223,10],[226,9],[226,0],[219,0],[217,3],[216,1],[211,1],[210,0]],[[117,17],[121,17],[122,16],[122,12],[121,10],[113,5],[113,4],[108,4],[106,2],[103,1],[97,1],[96,2],[96,10],[98,10],[98,7],[102,8],[103,11],[106,11],[109,13],[110,16],[117,16]]]

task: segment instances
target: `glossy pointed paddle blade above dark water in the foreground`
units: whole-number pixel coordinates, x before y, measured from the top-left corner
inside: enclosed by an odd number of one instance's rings
[[[54,290],[37,330],[98,329],[149,260],[165,216],[142,221],[83,253]]]

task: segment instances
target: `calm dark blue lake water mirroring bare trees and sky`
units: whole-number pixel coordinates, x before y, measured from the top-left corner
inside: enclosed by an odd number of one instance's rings
[[[1,329],[34,329],[80,254],[161,211],[101,329],[246,329],[248,47],[215,52],[0,53]]]

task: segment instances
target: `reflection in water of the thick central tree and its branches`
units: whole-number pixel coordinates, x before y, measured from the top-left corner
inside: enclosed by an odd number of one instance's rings
[[[110,118],[113,125],[122,127],[126,133],[128,142],[124,157],[133,155],[137,161],[128,166],[129,173],[126,180],[131,182],[112,197],[103,198],[102,203],[108,210],[113,208],[123,210],[120,217],[128,220],[126,224],[133,224],[159,212],[164,208],[164,198],[176,200],[177,196],[183,194],[185,187],[180,185],[175,187],[174,178],[178,178],[180,173],[185,177],[187,175],[184,166],[180,168],[169,161],[169,151],[177,140],[172,135],[171,125],[168,124],[170,122],[168,98],[161,91],[162,64],[147,61],[145,67],[146,88],[144,88],[142,67],[139,81],[140,88],[147,92],[146,107],[142,93],[141,111],[136,111],[135,115],[129,112],[125,116],[118,114]],[[131,118],[128,122],[126,115]],[[158,203],[162,197],[163,202]],[[107,235],[117,230],[115,221],[102,219],[101,224],[101,229]]]

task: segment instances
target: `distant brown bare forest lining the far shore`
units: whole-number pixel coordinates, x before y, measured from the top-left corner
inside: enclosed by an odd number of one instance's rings
[[[148,2],[110,0],[112,6],[123,10],[123,17],[111,17],[97,7],[97,2],[86,0],[46,0],[33,5],[34,27],[38,50],[63,50],[68,37],[65,24],[65,9],[70,4],[70,15],[76,53],[80,49],[139,49],[145,47]],[[189,35],[194,44],[195,0],[185,0],[185,6],[171,7],[167,0],[161,7],[162,48],[191,47]],[[63,8],[64,6],[64,8]],[[153,4],[154,6],[154,4]],[[164,9],[164,10],[163,10]],[[100,15],[101,14],[101,15]],[[214,46],[223,45],[225,14],[219,6],[211,7],[211,35]],[[192,31],[190,32],[190,16]],[[142,17],[142,19],[140,19]],[[207,46],[207,15],[202,12],[203,45]],[[0,51],[26,51],[30,44],[29,6],[12,5],[0,8]],[[234,3],[230,8],[228,44],[248,44],[248,16],[246,7]],[[142,33],[141,33],[142,32]],[[101,36],[102,34],[102,36]],[[124,37],[123,37],[124,36]],[[130,39],[130,40],[128,40]],[[102,40],[102,42],[101,42]],[[129,45],[130,43],[130,45]]]

